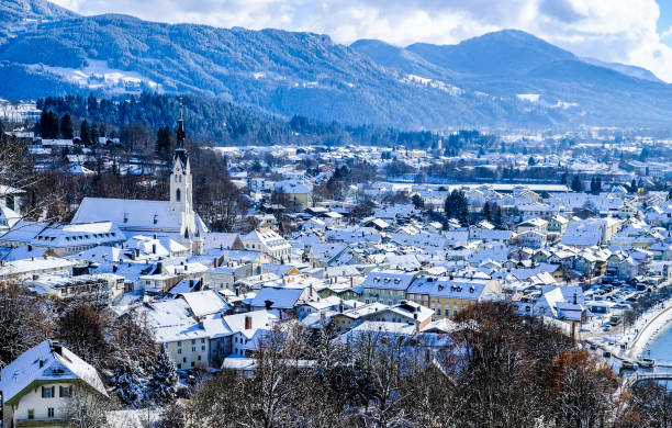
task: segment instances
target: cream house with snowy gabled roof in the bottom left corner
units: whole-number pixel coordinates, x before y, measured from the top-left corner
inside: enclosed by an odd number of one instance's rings
[[[44,340],[0,372],[3,427],[69,427],[74,394],[108,398],[93,367],[63,345]]]

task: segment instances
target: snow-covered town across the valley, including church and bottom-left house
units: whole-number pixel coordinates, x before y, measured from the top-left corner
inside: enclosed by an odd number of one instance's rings
[[[77,137],[9,134],[30,139],[36,169],[54,168],[54,154],[67,148],[61,171],[96,173],[87,168],[94,154]],[[100,138],[101,147],[119,143]],[[672,166],[618,156],[639,157],[652,144],[667,150],[670,142],[505,135],[502,153],[458,156],[440,146],[213,147],[246,201],[231,232],[213,232],[195,209],[184,138],[180,122],[168,164],[103,162],[122,174],[167,171],[169,200],[87,196],[70,222],[58,223],[25,218],[25,191],[1,187],[0,281],[116,316],[142,313],[184,379],[197,370],[251,371],[265,336],[288,320],[329,328],[335,340],[423,335],[435,352],[460,328],[456,317],[482,302],[511,303],[576,345],[590,340],[593,350],[626,359],[636,336],[627,328],[662,302],[672,281]],[[268,156],[281,165],[267,165]],[[352,162],[374,179],[349,180]],[[455,176],[432,173],[445,168]],[[548,179],[548,169],[561,173]],[[502,179],[497,170],[527,173]],[[37,398],[68,397],[69,384],[107,394],[85,360],[46,340],[8,362],[4,426],[63,418]]]

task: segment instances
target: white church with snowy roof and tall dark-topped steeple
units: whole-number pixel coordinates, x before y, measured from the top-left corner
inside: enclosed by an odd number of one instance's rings
[[[193,211],[186,137],[184,121],[180,116],[170,172],[170,201],[85,198],[71,224],[112,222],[128,238],[134,235],[166,236],[190,248],[194,255],[202,254],[208,227]]]

